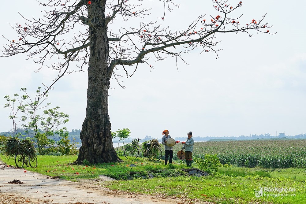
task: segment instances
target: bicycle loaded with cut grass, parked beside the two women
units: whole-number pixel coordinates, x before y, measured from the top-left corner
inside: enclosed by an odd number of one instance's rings
[[[139,156],[139,149],[142,151],[144,157],[147,156],[151,161],[159,161],[162,158],[162,150],[157,147],[156,151],[150,150],[150,143],[147,143],[147,149],[144,151],[139,145],[139,138],[132,140],[132,145],[128,146],[124,150],[125,158],[134,157],[135,159]]]

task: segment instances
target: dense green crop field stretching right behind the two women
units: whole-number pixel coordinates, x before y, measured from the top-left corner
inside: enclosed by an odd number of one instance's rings
[[[196,142],[193,157],[205,154],[217,154],[221,164],[240,167],[306,168],[306,139]]]

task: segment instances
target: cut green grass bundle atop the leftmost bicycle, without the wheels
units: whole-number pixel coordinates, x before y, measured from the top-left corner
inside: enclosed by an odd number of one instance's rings
[[[29,157],[36,156],[35,147],[31,140],[22,141],[14,137],[9,137],[5,143],[5,154],[8,157],[14,157],[15,154],[24,154]]]

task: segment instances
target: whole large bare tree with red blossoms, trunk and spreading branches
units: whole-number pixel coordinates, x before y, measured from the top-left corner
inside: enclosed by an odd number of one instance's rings
[[[119,83],[122,71],[130,77],[139,63],[152,69],[150,60],[162,60],[169,55],[184,62],[182,54],[194,49],[215,52],[218,56],[215,49],[220,42],[216,39],[218,33],[271,34],[268,24],[263,23],[265,15],[247,23],[239,22],[241,14],[236,10],[242,2],[231,5],[226,0],[213,0],[217,15],[199,16],[180,31],[153,21],[144,3],[143,0],[46,0],[40,3],[46,8],[41,18],[24,18],[28,23],[12,26],[18,39],[8,39],[2,50],[4,56],[27,53],[41,64],[40,68],[47,66],[58,71],[54,83],[76,66],[88,72],[86,117],[80,133],[82,147],[75,164],[84,159],[91,163],[120,161],[112,145],[108,115],[111,77]],[[155,3],[162,8],[159,21],[165,20],[171,9],[180,7],[175,0]],[[148,22],[141,21],[129,28],[122,23],[134,18]],[[56,62],[50,63],[50,59]],[[54,83],[45,85],[45,92]]]

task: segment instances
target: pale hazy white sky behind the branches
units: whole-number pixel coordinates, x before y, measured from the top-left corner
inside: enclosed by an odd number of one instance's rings
[[[161,2],[154,2],[152,13],[162,16]],[[167,13],[162,22],[171,30],[182,30],[201,14],[209,20],[209,15],[220,14],[208,0],[177,2],[180,8]],[[228,2],[235,5],[239,1]],[[269,30],[277,34],[254,33],[252,38],[245,33],[218,34],[222,40],[217,45],[222,49],[218,59],[212,52],[200,54],[198,49],[183,55],[188,65],[179,61],[178,70],[175,58],[168,57],[151,61],[155,68],[152,71],[147,65],[140,65],[131,78],[123,78],[125,89],[111,81],[112,131],[129,128],[132,138],[160,138],[164,129],[172,137],[187,137],[189,131],[194,136],[306,133],[306,33],[302,21],[306,2],[296,3],[243,1],[243,6],[236,10],[236,16],[243,14],[241,23],[250,23],[267,13],[265,22],[273,25]],[[18,12],[25,17],[38,17],[43,9],[36,1],[17,0],[14,5],[2,6],[1,34],[17,39],[9,24],[25,23]],[[149,20],[152,18],[145,21]],[[7,43],[2,36],[0,41],[2,45]],[[23,54],[0,58],[0,132],[9,131],[12,124],[7,118],[10,109],[3,108],[4,95],[20,93],[21,87],[34,94],[36,87],[52,83],[57,74],[47,67],[35,73],[39,66],[26,59]],[[82,128],[86,91],[87,72],[83,72],[63,77],[49,92],[50,107],[60,106],[62,112],[69,114],[70,121],[64,126],[70,131]]]

